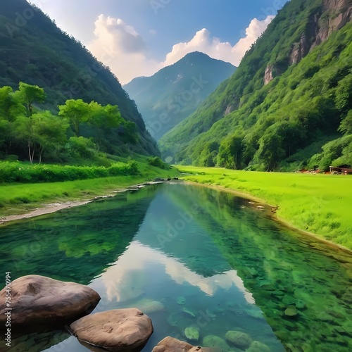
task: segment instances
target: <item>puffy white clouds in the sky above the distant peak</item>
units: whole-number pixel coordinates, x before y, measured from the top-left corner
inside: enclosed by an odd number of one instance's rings
[[[95,22],[96,39],[87,47],[94,56],[111,68],[122,84],[125,84],[134,77],[153,75],[193,51],[201,51],[212,58],[238,66],[246,51],[265,31],[273,18],[272,15],[261,21],[254,18],[246,28],[244,37],[234,46],[230,42],[221,42],[220,38],[212,37],[210,32],[203,28],[196,32],[189,42],[172,46],[165,60],[159,63],[151,58],[146,42],[134,27],[121,19],[99,15]],[[156,32],[151,30],[150,34]]]

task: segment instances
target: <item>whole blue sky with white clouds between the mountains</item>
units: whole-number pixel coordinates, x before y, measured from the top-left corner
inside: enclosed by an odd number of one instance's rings
[[[122,84],[191,51],[238,65],[287,0],[32,0]]]

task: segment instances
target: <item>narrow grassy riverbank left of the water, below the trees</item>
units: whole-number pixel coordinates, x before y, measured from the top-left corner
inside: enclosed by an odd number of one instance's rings
[[[28,213],[49,203],[85,201],[134,184],[153,180],[155,177],[175,177],[175,168],[163,170],[146,163],[137,163],[138,175],[101,177],[91,180],[44,183],[0,184],[0,218]]]

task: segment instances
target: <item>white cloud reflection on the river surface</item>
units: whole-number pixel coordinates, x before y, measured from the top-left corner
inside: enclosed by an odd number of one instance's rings
[[[133,298],[140,299],[149,285],[148,272],[145,268],[148,268],[151,263],[164,265],[165,274],[176,284],[187,283],[198,287],[207,296],[214,296],[219,289],[228,290],[231,287],[237,287],[247,303],[256,303],[252,294],[244,287],[244,282],[237,275],[237,271],[228,270],[211,277],[203,277],[189,270],[180,260],[167,256],[165,253],[156,251],[149,246],[144,246],[139,241],[132,241],[132,244],[118,258],[115,265],[112,265],[101,276],[94,279],[90,286],[92,289],[99,291],[98,287],[103,284],[106,299],[109,302],[130,301]]]

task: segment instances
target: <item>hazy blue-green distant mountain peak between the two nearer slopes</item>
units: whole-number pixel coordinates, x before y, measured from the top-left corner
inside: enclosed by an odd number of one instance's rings
[[[149,132],[160,139],[196,111],[235,70],[231,63],[194,52],[151,77],[135,78],[123,88],[136,101]]]

